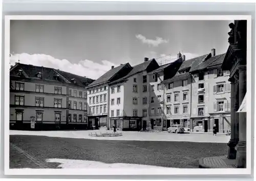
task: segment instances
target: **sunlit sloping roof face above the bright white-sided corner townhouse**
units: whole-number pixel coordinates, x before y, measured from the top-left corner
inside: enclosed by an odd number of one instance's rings
[[[117,79],[117,80],[115,80],[115,81],[113,81],[111,83],[120,82],[122,80],[125,80],[125,79],[127,79],[127,78],[129,78],[129,77],[131,77],[131,76],[133,76],[135,74],[137,74],[137,73],[146,71],[148,65],[150,65],[150,63],[153,62],[153,61],[156,62],[156,60],[153,58],[151,60],[148,60],[148,61],[145,61],[143,63],[140,63],[138,65],[133,66],[133,69],[126,76],[124,76],[124,77],[122,77],[120,79]]]

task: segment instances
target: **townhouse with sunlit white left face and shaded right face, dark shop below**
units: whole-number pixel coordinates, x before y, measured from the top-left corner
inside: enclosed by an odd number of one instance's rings
[[[115,124],[122,130],[140,130],[149,120],[149,72],[159,67],[155,59],[132,67],[124,77],[109,83],[110,127]]]

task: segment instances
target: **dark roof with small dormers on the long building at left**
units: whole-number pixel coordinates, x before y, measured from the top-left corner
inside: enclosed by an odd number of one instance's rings
[[[44,66],[34,66],[31,64],[28,65],[28,64],[22,64],[22,63],[17,64],[14,67],[14,69],[10,71],[10,76],[16,76],[18,70],[24,71],[24,73],[26,74],[26,76],[28,76],[28,78],[33,78],[33,79],[40,79],[37,77],[37,73],[39,72],[42,73],[42,79],[48,80],[48,81],[57,81],[55,76],[59,74],[60,76],[64,77],[69,82],[74,84],[71,81],[71,79],[74,78],[76,80],[75,85],[81,86],[81,87],[84,87],[87,83],[90,84],[91,82],[93,82],[93,79],[85,78],[85,77],[71,74],[68,72],[63,72],[63,71],[59,71],[59,70],[52,69],[49,67],[44,67]],[[67,81],[60,78],[59,82],[67,82]]]

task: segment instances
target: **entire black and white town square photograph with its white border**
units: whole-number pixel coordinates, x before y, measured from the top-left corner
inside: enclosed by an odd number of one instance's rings
[[[9,173],[250,169],[248,16],[71,17],[6,19]]]

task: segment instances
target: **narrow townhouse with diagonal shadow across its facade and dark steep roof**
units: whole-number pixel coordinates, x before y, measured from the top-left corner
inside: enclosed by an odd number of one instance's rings
[[[166,123],[166,110],[169,109],[166,103],[169,102],[166,102],[165,99],[167,89],[163,81],[172,78],[184,60],[185,56],[181,57],[179,53],[176,61],[161,65],[158,69],[148,73],[148,79],[150,81],[148,112],[150,115],[151,129],[166,130],[166,127],[169,126],[169,123]]]

